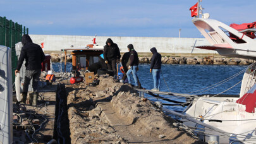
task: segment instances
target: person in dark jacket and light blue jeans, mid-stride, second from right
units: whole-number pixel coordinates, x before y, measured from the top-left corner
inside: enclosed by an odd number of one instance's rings
[[[131,72],[133,73],[133,79],[135,81],[135,88],[138,88],[138,78],[137,78],[137,71],[138,71],[138,54],[134,50],[133,45],[129,44],[128,51],[130,52],[130,64],[128,66],[128,71],[126,73],[128,78],[128,83],[131,84]]]

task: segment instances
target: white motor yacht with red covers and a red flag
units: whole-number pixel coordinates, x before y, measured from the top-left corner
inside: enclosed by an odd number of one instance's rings
[[[217,51],[221,56],[256,59],[256,22],[226,25],[202,14],[198,1],[192,6],[193,23],[211,45],[196,46]],[[200,97],[183,114],[183,124],[195,135],[208,142],[212,137],[219,143],[256,143],[255,63],[248,66],[241,80],[240,97]],[[215,136],[215,137],[214,137]],[[212,140],[210,140],[212,141]]]

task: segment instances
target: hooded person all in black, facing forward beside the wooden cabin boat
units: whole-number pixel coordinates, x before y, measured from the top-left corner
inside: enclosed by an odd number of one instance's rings
[[[117,75],[116,71],[116,63],[120,61],[120,50],[117,44],[113,42],[110,38],[107,39],[106,45],[104,46],[103,50],[104,60],[107,64],[107,69],[113,70],[114,75]]]

